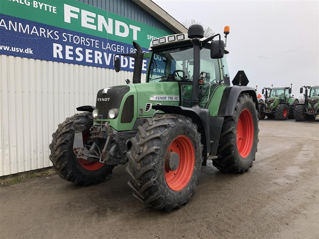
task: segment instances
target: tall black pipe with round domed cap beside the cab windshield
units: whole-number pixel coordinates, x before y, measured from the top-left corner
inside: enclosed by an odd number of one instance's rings
[[[200,74],[200,39],[204,37],[204,28],[201,25],[191,25],[188,29],[188,38],[194,47],[194,75],[192,90],[192,107],[198,108],[199,74]]]

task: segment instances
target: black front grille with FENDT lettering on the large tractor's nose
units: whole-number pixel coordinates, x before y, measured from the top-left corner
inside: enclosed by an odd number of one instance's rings
[[[106,93],[103,93],[105,89],[101,89],[96,97],[96,108],[99,110],[99,114],[103,115],[103,119],[108,118],[108,111],[110,109],[120,108],[124,95],[130,91],[130,87],[126,85],[106,89]],[[103,99],[104,101],[100,101],[99,99]]]

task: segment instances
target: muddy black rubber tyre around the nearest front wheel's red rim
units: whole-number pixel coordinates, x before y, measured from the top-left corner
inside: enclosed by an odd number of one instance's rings
[[[166,181],[165,158],[171,143],[180,135],[187,136],[193,145],[195,163],[187,185],[174,191]],[[133,196],[156,209],[170,211],[180,208],[194,194],[201,174],[203,145],[197,126],[182,115],[158,114],[139,126],[131,141],[126,171]]]

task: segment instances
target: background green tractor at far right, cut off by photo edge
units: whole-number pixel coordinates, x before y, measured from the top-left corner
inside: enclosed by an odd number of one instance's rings
[[[294,117],[296,121],[315,120],[319,115],[319,85],[315,86],[303,86],[305,88],[305,103],[297,104],[294,110]],[[308,90],[310,90],[308,95]],[[303,88],[300,88],[300,93],[303,92]]]

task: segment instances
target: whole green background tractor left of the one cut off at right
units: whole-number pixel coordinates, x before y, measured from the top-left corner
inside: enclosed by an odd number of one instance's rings
[[[259,104],[260,120],[267,118],[278,120],[293,119],[293,110],[299,103],[297,98],[291,96],[292,83],[290,87],[273,87],[263,88],[262,94],[265,93],[265,104]],[[268,91],[269,96],[268,96]]]

